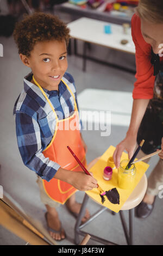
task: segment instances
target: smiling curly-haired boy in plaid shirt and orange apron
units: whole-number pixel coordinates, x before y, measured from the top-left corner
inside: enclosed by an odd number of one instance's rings
[[[35,13],[17,23],[14,39],[22,63],[32,70],[14,107],[18,148],[24,164],[38,176],[49,233],[61,240],[65,231],[56,208],[66,203],[77,216],[81,205],[75,200],[76,190],[97,187],[97,180],[80,171],[67,149],[69,145],[86,164],[76,88],[66,73],[69,29],[56,16]],[[87,218],[88,211],[83,222]]]

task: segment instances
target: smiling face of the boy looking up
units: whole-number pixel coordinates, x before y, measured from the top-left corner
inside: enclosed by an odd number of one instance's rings
[[[22,56],[20,54],[22,59]],[[27,57],[26,57],[27,58]],[[22,60],[24,63],[24,61]],[[35,80],[47,90],[58,90],[62,76],[67,70],[66,41],[37,42],[25,65],[32,69]]]

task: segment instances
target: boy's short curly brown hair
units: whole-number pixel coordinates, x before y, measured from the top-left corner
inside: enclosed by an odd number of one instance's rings
[[[57,16],[34,13],[26,15],[24,20],[16,23],[13,35],[18,53],[30,57],[36,42],[65,39],[68,46],[70,29]]]

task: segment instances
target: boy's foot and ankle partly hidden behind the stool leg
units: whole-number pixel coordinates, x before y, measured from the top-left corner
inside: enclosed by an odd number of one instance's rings
[[[69,210],[70,212],[72,212],[72,214],[78,215],[78,214],[79,214],[79,211],[80,211],[80,209],[81,209],[81,207],[82,207],[82,204],[77,203],[76,201],[75,201],[75,202],[70,202],[69,200],[67,200],[66,206],[67,206],[68,210]],[[89,218],[90,218],[90,213],[89,213],[89,211],[86,209],[86,210],[85,210],[85,215],[84,215],[84,217],[82,218],[82,223],[86,222]]]

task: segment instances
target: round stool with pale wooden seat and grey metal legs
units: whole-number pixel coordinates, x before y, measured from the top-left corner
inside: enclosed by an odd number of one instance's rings
[[[99,160],[100,157],[94,159],[90,164],[87,166],[87,169],[91,169],[91,167]],[[139,184],[134,188],[133,192],[130,194],[129,198],[127,201],[123,204],[121,210],[120,210],[120,218],[122,222],[122,227],[124,231],[124,235],[126,236],[126,241],[128,245],[133,245],[134,244],[134,208],[139,205],[145,196],[147,190],[147,176],[144,174],[142,176],[142,179],[140,180]],[[85,209],[86,209],[86,204],[88,202],[89,196],[85,193],[82,207],[80,209],[77,222],[75,225],[75,243],[76,245],[79,244],[79,235],[85,236],[86,233],[82,229],[85,227],[86,224],[90,223],[92,220],[94,220],[97,216],[102,214],[103,211],[107,210],[108,208],[102,206],[101,209],[99,209],[95,214],[91,215],[89,220],[86,221],[84,224],[80,225],[82,218],[85,214]],[[92,198],[91,198],[92,199]],[[93,199],[92,199],[93,200]],[[95,201],[98,203],[97,201]],[[129,230],[127,229],[126,221],[124,220],[123,216],[123,211],[128,210],[129,211]],[[112,214],[115,214],[114,212],[111,211]],[[93,234],[89,234],[91,236],[92,240],[98,241],[103,243],[104,245],[116,245],[116,243],[110,242],[108,240],[102,239],[101,237],[95,236]]]

